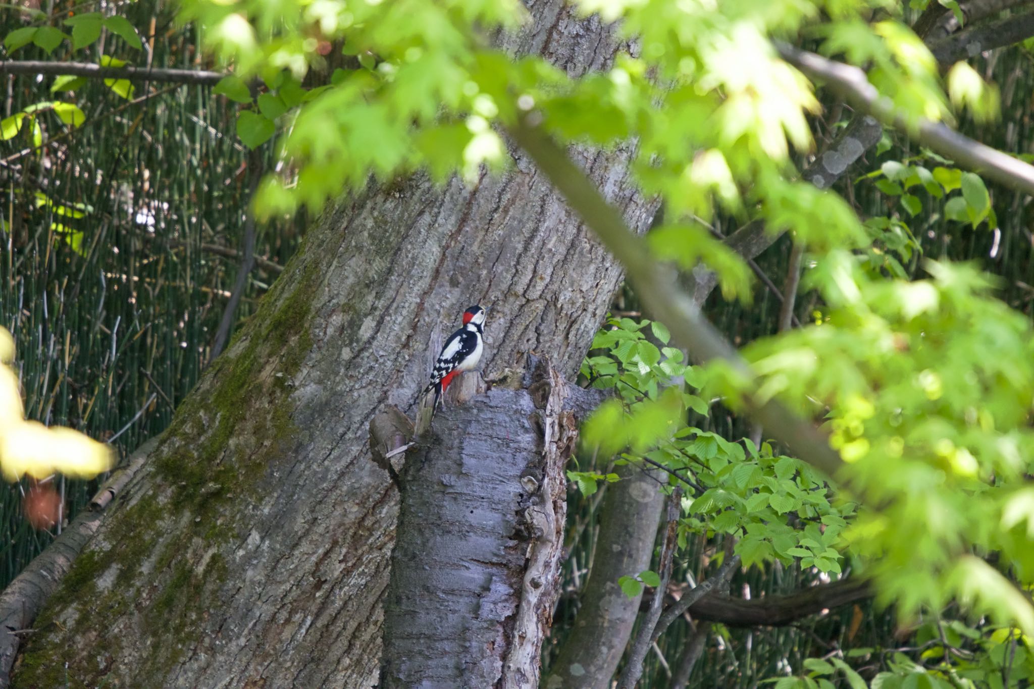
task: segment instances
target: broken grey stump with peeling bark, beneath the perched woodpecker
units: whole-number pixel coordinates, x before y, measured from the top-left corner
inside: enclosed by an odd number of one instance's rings
[[[381,686],[536,687],[559,593],[576,425],[540,362],[440,410],[406,457]]]

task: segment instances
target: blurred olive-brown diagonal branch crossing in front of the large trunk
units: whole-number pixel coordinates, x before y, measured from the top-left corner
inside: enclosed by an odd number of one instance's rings
[[[625,265],[629,280],[658,320],[671,331],[677,346],[686,347],[698,362],[724,359],[748,378],[754,375],[732,345],[700,313],[693,299],[678,286],[670,268],[659,263],[645,243],[625,224],[620,213],[597,189],[556,144],[541,129],[521,122],[511,135],[581,216],[608,250]],[[772,436],[794,448],[797,456],[832,476],[843,462],[826,437],[810,421],[798,418],[782,404],[760,403],[743,396],[749,414]]]

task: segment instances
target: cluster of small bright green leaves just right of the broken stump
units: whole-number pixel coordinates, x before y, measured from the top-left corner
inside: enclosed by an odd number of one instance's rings
[[[688,426],[691,410],[708,411],[695,394],[704,377],[681,364],[679,350],[649,342],[647,326],[667,341],[663,325],[628,318],[611,319],[594,340],[582,373],[596,387],[612,387],[615,398],[583,425],[584,442],[600,457],[617,453],[619,462],[664,467],[687,479],[695,495],[682,501],[680,546],[690,534],[728,534],[747,566],[799,561],[839,573],[842,532],[853,503],[831,505],[828,487],[808,465],[774,456],[767,443],[759,450],[749,440],[734,443]],[[591,472],[569,476],[586,495],[603,478]],[[634,583],[625,586],[628,591]]]

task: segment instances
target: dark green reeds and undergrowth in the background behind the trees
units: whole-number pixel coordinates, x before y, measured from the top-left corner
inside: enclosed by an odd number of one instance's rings
[[[75,17],[84,9],[93,7],[52,2],[48,7],[9,10],[0,33],[8,36],[9,52],[17,48],[19,59],[59,60],[71,56],[73,45],[68,41],[56,51],[47,50],[51,44],[48,37],[37,32],[33,34],[35,43],[18,48],[11,44],[11,32],[62,27],[74,42],[83,35],[77,33],[75,23],[69,28],[54,20]],[[196,8],[191,11],[202,12]],[[127,60],[162,68],[205,64],[195,25],[176,24],[174,10],[161,3],[109,4],[104,15],[124,17],[130,31],[119,24],[104,25],[102,35],[98,29],[99,41],[90,41],[87,49],[91,59],[101,63],[105,59]],[[906,20],[918,15],[918,11],[909,10],[903,14]],[[134,41],[136,30],[140,35]],[[225,45],[222,50],[233,52]],[[356,52],[351,53],[343,59],[353,59]],[[985,80],[1000,85],[1001,118],[989,120],[977,109],[980,122],[963,117],[961,130],[1001,150],[1030,154],[1034,151],[1034,57],[1027,49],[1013,46],[980,56],[972,64]],[[332,71],[332,66],[325,65],[324,73]],[[278,102],[260,98],[252,109],[245,111],[252,114],[246,117],[239,114],[236,101],[250,103],[252,94],[247,87],[242,92],[240,84],[220,83],[213,91],[211,84],[144,81],[130,88],[128,82],[115,80],[70,84],[65,77],[54,76],[11,74],[4,79],[0,324],[18,343],[18,371],[27,414],[110,442],[124,457],[171,421],[176,405],[211,357],[233,293],[240,297],[234,317],[248,317],[255,300],[276,279],[297,246],[306,213],[294,212],[297,199],[288,202],[278,195],[281,187],[290,188],[297,178],[285,163],[287,156],[265,144],[275,131],[273,122],[279,122],[281,133],[290,128],[287,120],[280,118],[284,112],[280,108],[290,104],[285,95],[290,89],[280,84]],[[300,89],[301,81],[295,87]],[[850,115],[838,104],[838,97],[823,93],[822,98],[824,115],[808,121],[819,143],[832,139]],[[77,103],[75,111],[59,104],[70,102]],[[26,113],[29,115],[20,115]],[[242,139],[254,146],[256,153],[249,153]],[[304,142],[297,146],[288,150],[299,158],[314,156]],[[431,153],[427,156],[433,162]],[[796,155],[796,162],[803,162],[805,156]],[[474,159],[475,168],[483,159],[487,156]],[[359,179],[365,179],[369,167],[376,169],[377,164],[373,160],[361,168]],[[912,180],[916,173],[910,166],[915,165],[923,165],[931,179]],[[383,167],[377,171],[391,171],[390,164]],[[462,161],[444,164],[442,171],[455,167],[461,168]],[[945,173],[938,174],[938,168]],[[260,195],[268,194],[268,218],[253,238],[254,253],[263,260],[247,271],[244,288],[238,289],[244,247],[249,242],[250,192],[257,178],[270,170],[279,175],[279,186],[262,188]],[[302,208],[306,203],[317,208],[323,196],[331,193],[330,186],[340,188],[342,184],[340,179],[329,180],[327,187],[308,182],[311,196],[301,196]],[[985,198],[981,195],[984,188]],[[972,261],[977,270],[995,276],[996,299],[1028,320],[1034,315],[1034,234],[1030,198],[1022,192],[991,183],[986,187],[980,183],[978,190],[972,191],[963,185],[961,170],[950,161],[890,131],[835,190],[868,221],[873,242],[860,249],[859,255],[864,256],[860,264],[871,275],[912,280],[925,275],[923,259]],[[965,202],[953,202],[960,198]],[[709,201],[703,206],[711,210]],[[731,206],[718,206],[708,222],[700,222],[728,234],[740,225],[742,216]],[[758,257],[757,272],[781,288],[793,272],[794,255],[793,242],[785,236]],[[812,262],[805,264],[805,280],[794,301],[793,313],[800,323],[822,322],[833,311],[821,285],[807,279],[807,269],[813,267]],[[734,280],[730,278],[730,282]],[[705,308],[707,318],[737,346],[781,330],[781,300],[774,290],[761,280],[755,280],[751,290],[750,301],[714,294]],[[619,320],[606,325],[594,343],[583,369],[586,382],[615,376],[618,368],[629,363],[629,351],[620,349],[629,338],[638,340],[641,335],[643,341],[659,347],[667,344],[663,327],[641,327],[649,314],[631,287],[616,295],[612,313]],[[614,332],[632,335],[608,340],[607,334]],[[660,357],[652,363],[659,367],[653,372],[655,386],[665,375],[687,373],[667,351],[664,362],[669,370],[663,369]],[[671,370],[671,366],[679,368]],[[639,382],[649,384],[650,375],[642,374]],[[700,385],[704,382],[701,378]],[[618,396],[630,407],[649,397],[638,388],[618,388]],[[696,410],[689,415],[689,426],[700,433],[686,446],[692,445],[692,453],[705,460],[704,473],[709,470],[718,475],[724,468],[709,462],[716,457],[728,457],[734,463],[754,457],[759,467],[780,474],[773,467],[785,448],[762,446],[764,438],[755,438],[754,447],[736,444],[755,435],[753,425],[721,404],[711,404],[706,393],[691,389],[688,394],[693,399],[687,405]],[[707,403],[697,409],[702,400]],[[591,431],[588,433],[591,438]],[[618,456],[625,440],[615,441]],[[644,441],[642,451],[634,455],[649,458],[652,440]],[[802,465],[792,466],[791,474],[799,472],[796,480],[801,494],[821,483],[822,479],[810,476]],[[567,636],[594,560],[596,510],[607,490],[603,477],[613,470],[610,452],[586,446],[572,470],[571,551],[565,565],[565,594],[555,616],[553,647],[547,654],[555,652]],[[599,488],[596,477],[600,477]],[[698,476],[698,480],[703,479]],[[748,481],[732,480],[741,482],[741,489]],[[61,476],[53,482],[66,505],[61,522],[81,509],[97,486],[96,481]],[[34,529],[26,521],[23,501],[32,489],[30,479],[0,489],[0,524],[6,536],[0,540],[0,586],[17,575],[61,529],[60,522],[51,529]],[[769,504],[779,514],[790,511],[780,509],[774,499]],[[731,528],[716,524],[722,507],[711,510],[697,504],[689,510],[681,527],[682,547],[674,559],[672,593],[685,593],[688,585],[704,580],[722,562],[723,547],[732,538]],[[815,509],[812,516],[823,524],[822,534],[840,523],[821,518],[853,515],[853,507],[833,499],[823,498]],[[807,515],[801,519],[809,520]],[[726,525],[732,526],[740,525]],[[809,555],[804,539],[815,536],[819,528],[808,531],[799,521],[795,526],[799,527],[794,536],[797,540],[791,546],[798,551],[804,547],[803,559],[799,552],[785,561],[770,552],[758,551],[752,557],[740,544],[739,554],[755,566],[732,576],[734,593],[752,598],[791,593],[864,567],[857,554],[843,549],[831,556],[813,549]],[[742,532],[738,535],[742,543]],[[832,538],[826,540],[829,542],[822,545],[832,542]],[[987,550],[993,549],[989,545]],[[658,558],[655,571],[662,568],[660,553]],[[643,576],[647,585],[652,581],[650,574]],[[637,588],[634,583],[626,584]],[[1029,593],[1025,595],[1029,597]],[[982,615],[968,618],[953,602],[940,610],[909,613],[901,619],[894,606],[876,606],[865,600],[774,629],[716,625],[695,666],[691,686],[746,688],[783,678],[777,687],[785,689],[796,682],[787,676],[808,674],[851,687],[869,681],[874,687],[899,686],[899,682],[903,687],[967,686],[967,680],[977,686],[1027,686],[1034,672],[1034,657],[1028,653],[1028,638],[1014,634],[1011,622],[998,624]],[[678,675],[678,661],[685,659],[692,635],[688,621],[676,621],[647,656],[640,686],[671,686],[672,674]],[[845,670],[843,662],[854,670]],[[937,671],[927,674],[927,668]],[[800,682],[811,686],[816,681]]]

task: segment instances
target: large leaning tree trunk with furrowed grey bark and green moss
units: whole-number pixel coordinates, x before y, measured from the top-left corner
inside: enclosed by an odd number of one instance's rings
[[[531,2],[519,50],[606,66],[596,20]],[[627,151],[579,160],[633,227]],[[37,620],[20,687],[369,687],[398,493],[367,424],[405,408],[438,323],[491,305],[489,372],[571,377],[620,271],[530,164],[339,203],[178,410]],[[465,653],[458,645],[457,655]]]

